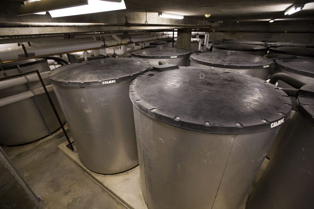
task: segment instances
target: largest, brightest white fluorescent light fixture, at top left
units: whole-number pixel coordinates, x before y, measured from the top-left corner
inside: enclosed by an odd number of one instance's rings
[[[102,0],[88,0],[87,5],[62,8],[49,11],[52,18],[73,16],[79,14],[90,14],[97,12],[107,12],[113,10],[126,9],[124,0],[119,2],[107,2]]]

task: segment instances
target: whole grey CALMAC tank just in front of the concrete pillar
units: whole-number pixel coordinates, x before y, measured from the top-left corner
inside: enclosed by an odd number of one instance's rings
[[[131,55],[146,60],[152,66],[159,65],[160,60],[178,66],[190,65],[190,51],[185,49],[153,47],[132,51]]]

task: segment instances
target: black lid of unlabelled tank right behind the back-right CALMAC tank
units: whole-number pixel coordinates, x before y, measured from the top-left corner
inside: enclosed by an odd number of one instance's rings
[[[266,47],[252,44],[215,43],[212,47],[230,51],[266,51]]]

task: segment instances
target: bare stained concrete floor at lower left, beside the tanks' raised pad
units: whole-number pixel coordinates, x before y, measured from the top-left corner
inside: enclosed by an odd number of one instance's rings
[[[43,208],[126,208],[58,149],[63,133],[35,145],[3,147]]]

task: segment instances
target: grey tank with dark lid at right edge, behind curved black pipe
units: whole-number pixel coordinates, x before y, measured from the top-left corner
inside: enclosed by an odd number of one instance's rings
[[[274,73],[278,72],[291,75],[303,83],[314,83],[314,58],[279,58],[275,62]],[[293,88],[280,80],[278,87]]]

